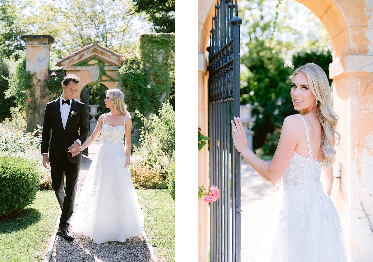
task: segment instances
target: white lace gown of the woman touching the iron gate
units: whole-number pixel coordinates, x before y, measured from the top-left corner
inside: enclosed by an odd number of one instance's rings
[[[257,262],[347,262],[338,213],[320,182],[321,162],[293,153]]]

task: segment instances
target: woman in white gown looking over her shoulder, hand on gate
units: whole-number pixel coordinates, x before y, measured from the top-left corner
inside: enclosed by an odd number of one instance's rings
[[[282,178],[257,262],[345,262],[341,223],[329,197],[338,116],[321,67],[310,63],[295,70],[290,95],[300,114],[283,121],[271,164],[248,149],[241,120],[232,120],[233,143],[246,162],[272,184]]]

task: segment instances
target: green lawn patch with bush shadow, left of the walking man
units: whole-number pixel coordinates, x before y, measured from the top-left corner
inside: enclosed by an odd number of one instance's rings
[[[0,222],[0,261],[43,261],[59,212],[54,191],[39,191],[22,215]]]

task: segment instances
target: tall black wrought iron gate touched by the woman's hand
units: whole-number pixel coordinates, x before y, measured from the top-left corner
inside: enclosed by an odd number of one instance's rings
[[[210,185],[220,189],[211,203],[211,262],[241,261],[241,164],[233,146],[231,119],[239,117],[239,26],[237,0],[217,0],[209,51]]]

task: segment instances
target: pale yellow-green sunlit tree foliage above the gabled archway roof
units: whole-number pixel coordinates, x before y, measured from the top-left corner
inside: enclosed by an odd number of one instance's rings
[[[32,33],[54,37],[53,61],[94,41],[120,54],[135,49],[139,33],[130,0],[31,1],[28,8]]]

